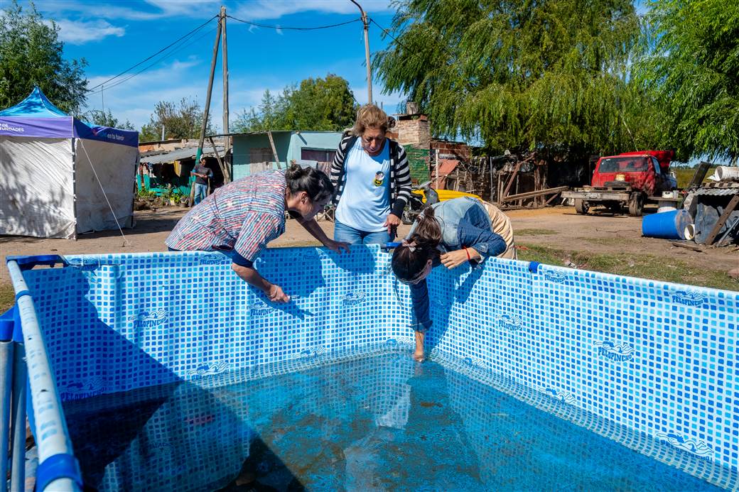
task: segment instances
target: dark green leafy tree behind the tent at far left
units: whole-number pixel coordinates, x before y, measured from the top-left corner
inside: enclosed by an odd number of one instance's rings
[[[0,108],[13,106],[39,86],[62,111],[78,114],[85,101],[84,58],[64,59],[59,27],[46,24],[33,3],[13,0],[0,22]]]

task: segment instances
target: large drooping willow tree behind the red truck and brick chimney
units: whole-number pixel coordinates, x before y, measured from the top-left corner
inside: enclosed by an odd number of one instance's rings
[[[403,0],[374,66],[435,134],[488,148],[610,152],[651,138],[630,83],[631,0]]]

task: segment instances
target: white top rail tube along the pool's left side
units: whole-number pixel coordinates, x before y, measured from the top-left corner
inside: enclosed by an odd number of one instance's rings
[[[27,291],[28,287],[21,269],[16,262],[7,262],[10,280],[16,294]],[[53,372],[49,364],[44,338],[38,327],[33,299],[30,295],[21,295],[16,301],[21,315],[23,341],[26,349],[26,365],[30,382],[31,402],[34,410],[35,438],[38,445],[38,464],[55,454],[72,454],[67,423],[61,408],[59,394],[56,389]],[[53,491],[78,491],[77,485],[70,479],[58,479],[49,484]]]

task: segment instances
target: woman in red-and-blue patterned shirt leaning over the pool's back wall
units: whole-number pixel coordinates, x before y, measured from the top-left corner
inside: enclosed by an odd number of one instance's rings
[[[287,171],[265,171],[218,188],[192,208],[172,230],[165,244],[171,251],[226,252],[236,274],[264,291],[270,301],[287,302],[282,287],[271,284],[254,269],[254,261],[268,242],[285,232],[285,211],[330,250],[349,250],[346,243],[328,239],[313,218],[333,195],[331,181],[321,171],[292,165]]]

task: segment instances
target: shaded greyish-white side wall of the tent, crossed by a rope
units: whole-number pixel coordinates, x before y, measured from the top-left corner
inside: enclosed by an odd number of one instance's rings
[[[131,227],[138,148],[86,139],[76,139],[75,146],[77,232],[118,229],[106,196],[120,227]]]

